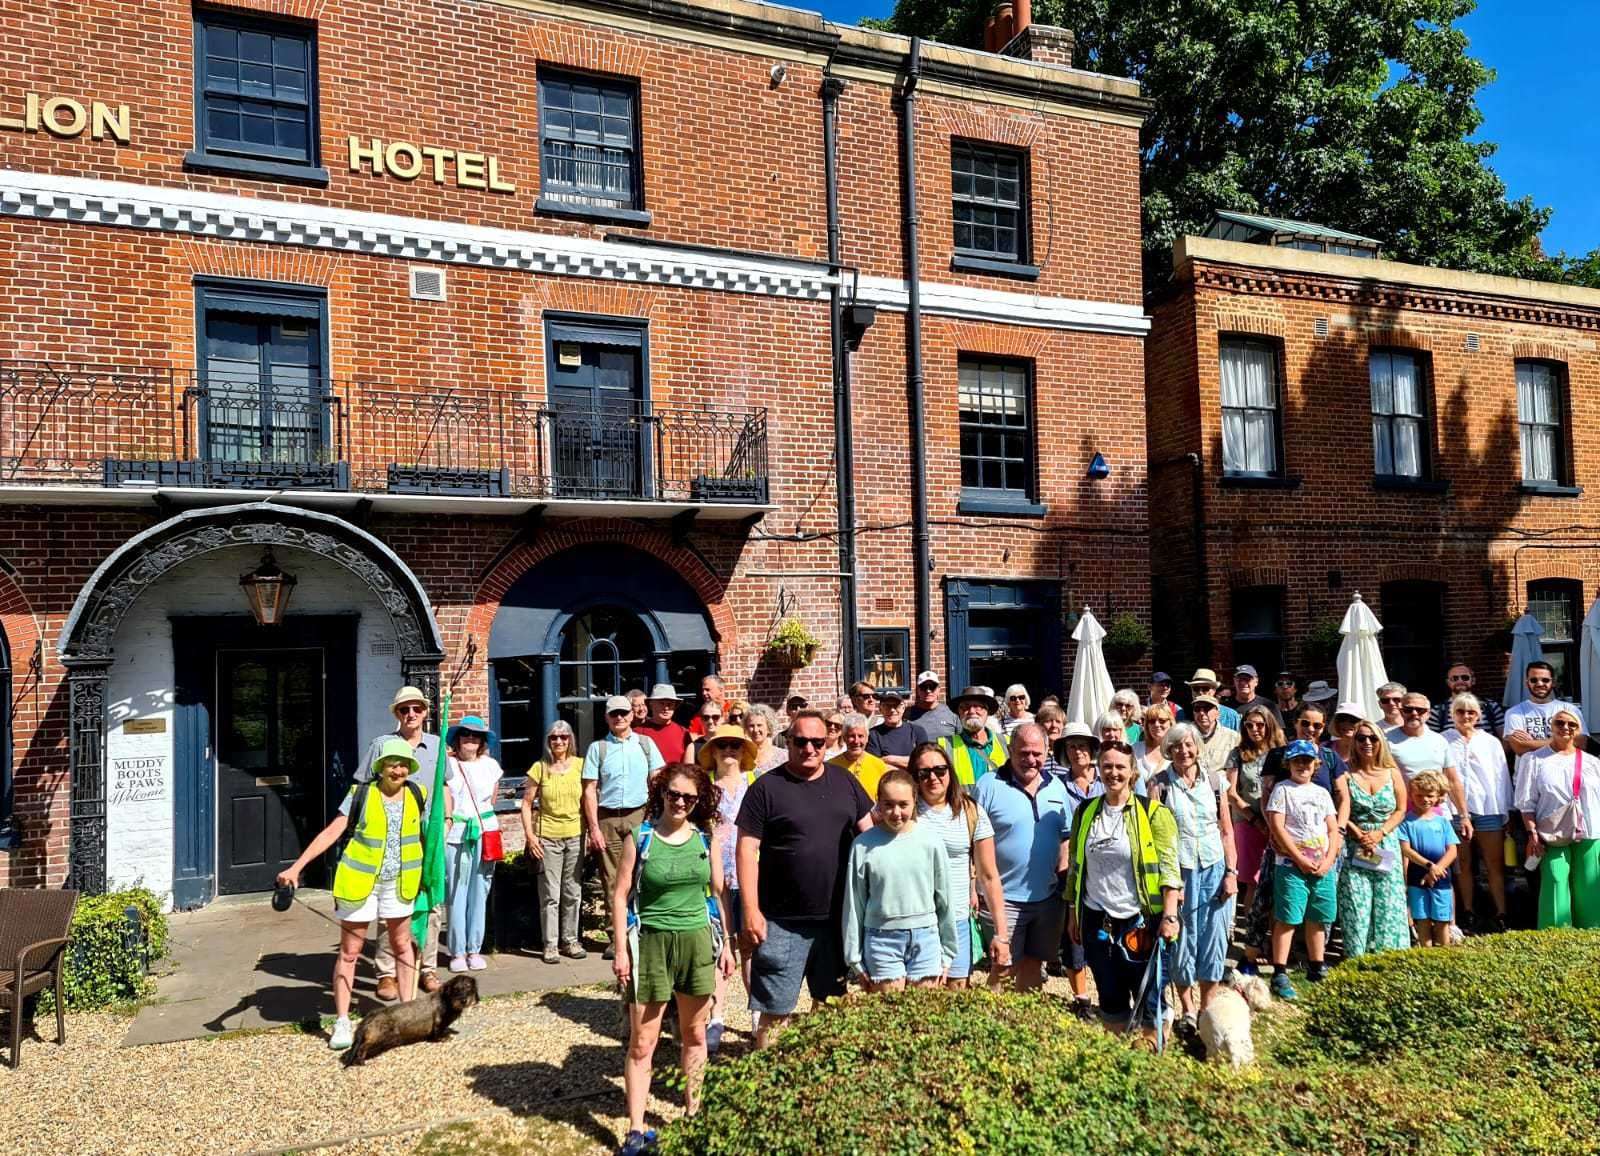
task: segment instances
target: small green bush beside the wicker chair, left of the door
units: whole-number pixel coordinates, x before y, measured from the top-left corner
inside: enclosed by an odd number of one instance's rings
[[[128,908],[139,913],[142,943],[128,943]],[[141,999],[149,988],[147,964],[166,954],[166,930],[162,901],[144,887],[78,897],[62,977],[67,1007],[83,1012]],[[40,1012],[53,1012],[54,1002],[54,991],[43,993]]]

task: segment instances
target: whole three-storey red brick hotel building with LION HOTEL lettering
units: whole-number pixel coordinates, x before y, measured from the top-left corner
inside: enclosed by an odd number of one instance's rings
[[[266,887],[402,680],[515,773],[610,692],[1061,688],[1075,607],[1142,616],[1144,104],[1064,34],[0,26],[0,884]]]

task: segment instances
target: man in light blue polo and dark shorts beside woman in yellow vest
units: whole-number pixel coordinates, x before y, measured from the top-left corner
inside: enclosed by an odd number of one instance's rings
[[[1005,892],[1018,991],[1042,986],[1045,962],[1061,949],[1059,876],[1067,868],[1074,804],[1061,777],[1045,770],[1046,749],[1043,729],[1024,722],[1011,732],[1006,765],[973,788],[995,829],[995,866]],[[1003,980],[1000,969],[989,973],[990,986]]]

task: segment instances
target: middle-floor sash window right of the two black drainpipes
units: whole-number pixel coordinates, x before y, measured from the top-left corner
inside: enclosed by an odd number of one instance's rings
[[[962,492],[1026,504],[1034,496],[1029,367],[963,357],[957,389]]]

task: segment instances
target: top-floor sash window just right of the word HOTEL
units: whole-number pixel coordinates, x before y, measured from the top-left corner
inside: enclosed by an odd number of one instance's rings
[[[638,86],[539,70],[539,208],[637,211]]]

